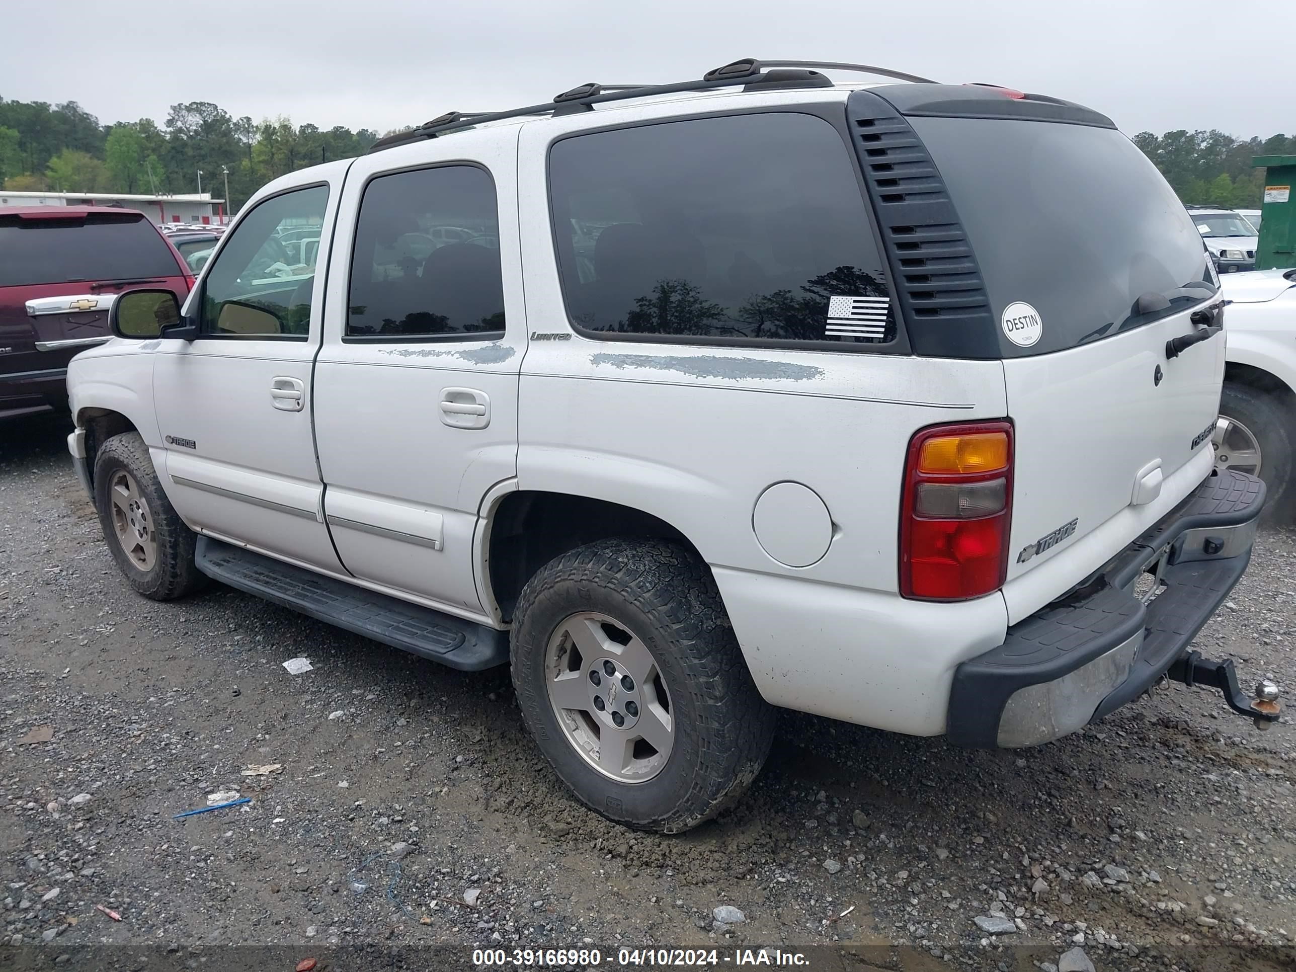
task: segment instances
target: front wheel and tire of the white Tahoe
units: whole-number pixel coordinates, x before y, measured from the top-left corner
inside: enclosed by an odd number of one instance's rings
[[[202,586],[197,537],[162,491],[137,432],[114,435],[95,456],[95,507],[113,560],[136,591],[166,601]]]

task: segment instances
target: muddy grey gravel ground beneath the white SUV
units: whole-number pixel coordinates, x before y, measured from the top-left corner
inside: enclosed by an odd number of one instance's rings
[[[635,833],[568,798],[504,670],[450,671],[228,588],[133,595],[64,434],[53,419],[0,432],[0,943],[32,968],[89,967],[76,949],[105,943],[1296,967],[1290,719],[1261,734],[1174,687],[1047,746],[967,752],[787,713],[737,810]],[[1198,647],[1286,693],[1293,588],[1296,533],[1262,530]],[[315,670],[289,675],[294,656]],[[49,741],[23,741],[43,727]],[[172,819],[222,791],[251,802]],[[718,924],[722,906],[743,920]]]

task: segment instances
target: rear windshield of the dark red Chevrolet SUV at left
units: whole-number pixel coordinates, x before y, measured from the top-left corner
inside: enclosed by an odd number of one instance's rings
[[[0,215],[0,286],[175,276],[175,255],[144,218]]]

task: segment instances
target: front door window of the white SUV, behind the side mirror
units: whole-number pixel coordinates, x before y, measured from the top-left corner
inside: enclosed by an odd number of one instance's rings
[[[273,196],[242,219],[203,284],[205,334],[306,340],[327,205],[328,188],[314,185]]]

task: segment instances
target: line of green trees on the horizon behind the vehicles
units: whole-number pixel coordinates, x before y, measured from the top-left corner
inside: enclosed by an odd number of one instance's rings
[[[363,154],[377,132],[321,130],[288,118],[235,118],[210,101],[171,105],[161,127],[152,118],[101,124],[75,101],[0,98],[0,185],[16,192],[189,193],[203,187],[229,209],[294,168]],[[1187,205],[1253,209],[1264,172],[1253,156],[1296,154],[1296,136],[1235,139],[1221,131],[1139,132],[1134,144]],[[224,171],[223,171],[224,170]]]

